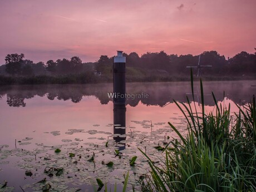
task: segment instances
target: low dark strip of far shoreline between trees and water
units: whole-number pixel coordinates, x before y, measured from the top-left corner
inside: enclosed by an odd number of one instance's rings
[[[194,77],[194,81],[253,81],[256,76],[203,76]],[[147,76],[144,78],[126,77],[126,83],[145,83],[145,82],[188,82],[190,77],[180,76]],[[106,76],[86,76],[86,74],[63,75],[63,76],[32,76],[32,77],[12,77],[0,75],[0,86],[5,85],[68,85],[68,84],[99,84],[112,83],[111,77]],[[253,85],[252,85],[253,86]],[[255,85],[254,85],[255,86]]]

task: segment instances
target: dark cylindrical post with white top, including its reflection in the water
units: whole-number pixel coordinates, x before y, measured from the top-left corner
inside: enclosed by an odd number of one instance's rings
[[[114,81],[114,134],[125,134],[125,57],[122,56],[122,51],[117,51],[117,56],[114,57],[113,66],[113,81]],[[118,127],[118,128],[116,128]],[[116,142],[125,140],[125,137],[114,137]]]

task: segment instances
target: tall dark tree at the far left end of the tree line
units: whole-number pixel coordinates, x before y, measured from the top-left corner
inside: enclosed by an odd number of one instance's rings
[[[6,72],[10,75],[19,75],[21,73],[21,67],[23,62],[24,54],[21,55],[8,54],[5,58],[6,61]]]

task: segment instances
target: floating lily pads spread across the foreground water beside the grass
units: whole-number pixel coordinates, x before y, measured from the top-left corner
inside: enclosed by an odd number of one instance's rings
[[[144,124],[145,121],[141,121],[140,126]],[[70,137],[71,131],[72,137]],[[8,145],[0,145],[0,165],[1,168],[4,166],[4,171],[8,171],[6,168],[12,164],[17,171],[22,171],[21,180],[14,182],[19,183],[24,191],[42,191],[49,185],[51,186],[49,191],[77,191],[79,189],[91,191],[93,185],[97,185],[96,178],[104,183],[101,191],[106,187],[107,191],[117,191],[123,188],[127,180],[124,175],[127,172],[130,176],[125,186],[126,190],[132,188],[134,191],[139,191],[140,186],[137,180],[147,173],[149,165],[142,158],[137,147],[146,147],[147,153],[151,155],[160,154],[154,146],[163,145],[163,131],[170,133],[171,129],[170,127],[154,129],[152,132],[133,130],[126,132],[125,137],[99,130],[49,131],[45,137],[58,140],[57,145],[37,143],[32,137],[21,138],[22,142],[27,142],[29,138],[30,144],[17,145],[17,149],[12,149],[12,146]],[[96,137],[91,138],[92,135]],[[106,140],[101,140],[101,137]],[[125,138],[125,140],[116,142],[114,137]],[[72,141],[63,142],[68,139]],[[26,175],[26,171],[31,171],[32,175]],[[23,177],[26,179],[23,180]],[[13,181],[8,179],[8,184],[13,186]],[[8,184],[6,189],[0,191],[11,191]],[[15,190],[20,190],[19,185],[16,185]]]

